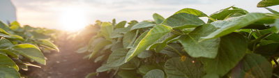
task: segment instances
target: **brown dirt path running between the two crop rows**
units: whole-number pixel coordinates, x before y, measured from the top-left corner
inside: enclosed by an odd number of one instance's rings
[[[85,55],[77,54],[73,47],[75,45],[70,42],[61,39],[56,44],[60,52],[45,53],[46,65],[36,63],[42,68],[29,66],[29,71],[24,71],[23,74],[31,78],[84,78],[89,73],[96,72],[100,66],[100,63],[93,63],[93,60],[82,59]],[[99,77],[104,78],[102,75]]]

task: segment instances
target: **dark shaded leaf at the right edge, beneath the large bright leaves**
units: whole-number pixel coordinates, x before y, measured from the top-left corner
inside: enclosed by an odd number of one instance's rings
[[[278,56],[279,43],[271,43],[268,45],[262,45],[255,49],[255,54],[261,54],[262,56]]]

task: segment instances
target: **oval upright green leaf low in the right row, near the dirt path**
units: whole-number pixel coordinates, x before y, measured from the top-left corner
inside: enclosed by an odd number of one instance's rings
[[[119,48],[114,50],[107,59],[107,66],[117,67],[125,63],[126,54],[128,53],[127,49]]]

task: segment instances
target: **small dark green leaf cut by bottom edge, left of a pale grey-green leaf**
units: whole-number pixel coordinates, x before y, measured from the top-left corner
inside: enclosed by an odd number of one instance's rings
[[[135,72],[135,70],[121,70],[118,72],[118,75],[122,78],[136,78],[137,72]]]

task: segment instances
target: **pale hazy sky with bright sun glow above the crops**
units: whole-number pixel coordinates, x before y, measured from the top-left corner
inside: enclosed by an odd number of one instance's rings
[[[35,27],[75,30],[102,22],[153,20],[153,13],[167,18],[183,8],[195,8],[206,15],[236,6],[250,13],[270,13],[257,8],[261,0],[11,0],[17,9],[17,21]],[[279,10],[279,6],[271,6]],[[202,17],[202,20],[207,18]]]

